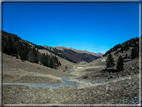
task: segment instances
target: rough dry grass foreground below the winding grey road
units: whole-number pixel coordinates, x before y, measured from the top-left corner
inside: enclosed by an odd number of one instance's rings
[[[3,86],[4,104],[138,104],[138,101],[138,75],[94,86],[85,86],[85,82],[57,89]]]

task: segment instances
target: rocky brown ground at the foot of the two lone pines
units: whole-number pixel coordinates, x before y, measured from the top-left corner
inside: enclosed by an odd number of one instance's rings
[[[87,71],[88,72],[88,71]],[[79,77],[80,80],[90,81],[91,83],[106,82],[111,79],[118,79],[129,75],[139,74],[139,59],[133,59],[124,63],[124,70],[117,71],[116,67],[112,69],[103,69],[91,71],[86,75]]]

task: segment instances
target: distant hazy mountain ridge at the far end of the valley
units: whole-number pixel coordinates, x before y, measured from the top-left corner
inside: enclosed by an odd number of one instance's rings
[[[45,45],[44,48],[56,54],[57,56],[60,56],[73,63],[79,63],[82,61],[91,62],[97,58],[102,57],[103,55],[102,53],[93,53],[86,50],[76,50],[76,49],[67,48],[64,46],[50,47]]]

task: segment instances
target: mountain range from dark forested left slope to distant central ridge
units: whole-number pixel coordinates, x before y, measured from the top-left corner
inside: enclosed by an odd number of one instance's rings
[[[20,58],[23,61],[39,63],[54,69],[62,66],[59,60],[61,58],[61,60],[79,63],[81,61],[91,62],[103,55],[73,48],[40,46],[5,31],[2,31],[2,50],[3,53],[16,56],[16,58]]]

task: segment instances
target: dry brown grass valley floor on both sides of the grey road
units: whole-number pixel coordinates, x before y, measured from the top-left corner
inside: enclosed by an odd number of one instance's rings
[[[3,83],[47,83],[62,84],[61,77],[78,82],[76,86],[59,88],[4,85],[3,104],[138,104],[139,73],[94,82],[90,74],[104,69],[104,65],[76,66],[66,73],[38,64],[22,62],[14,57],[3,55]],[[85,72],[86,71],[86,72]],[[76,72],[76,73],[75,73]],[[89,79],[82,79],[88,74]],[[98,74],[99,75],[99,74]],[[74,77],[73,77],[74,76]],[[92,78],[90,80],[90,78]],[[106,78],[102,78],[106,79]]]

